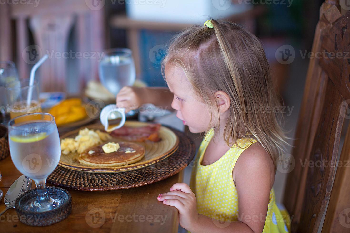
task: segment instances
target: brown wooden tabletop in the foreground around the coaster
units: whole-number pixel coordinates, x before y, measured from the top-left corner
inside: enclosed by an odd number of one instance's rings
[[[22,174],[10,156],[0,161],[4,196]],[[68,190],[72,212],[65,220],[46,227],[22,224],[15,209],[0,216],[0,232],[177,232],[179,214],[173,206],[157,201],[157,196],[182,182],[183,171],[153,184],[114,191],[84,192]],[[50,185],[50,184],[48,184]],[[33,182],[32,187],[35,188]],[[0,210],[5,208],[3,199]]]

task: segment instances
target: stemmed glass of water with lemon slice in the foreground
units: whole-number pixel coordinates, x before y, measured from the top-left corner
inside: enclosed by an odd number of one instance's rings
[[[21,207],[35,212],[56,209],[65,202],[59,195],[46,190],[46,178],[57,167],[61,157],[61,144],[54,116],[31,113],[13,118],[8,123],[8,142],[15,167],[34,180],[37,197]]]

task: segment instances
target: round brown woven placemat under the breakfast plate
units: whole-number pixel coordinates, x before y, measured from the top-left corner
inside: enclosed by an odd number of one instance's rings
[[[185,133],[172,130],[179,137],[179,148],[157,163],[137,170],[108,174],[80,172],[57,166],[47,181],[68,189],[104,191],[134,188],[164,180],[187,167],[196,151],[195,144]]]

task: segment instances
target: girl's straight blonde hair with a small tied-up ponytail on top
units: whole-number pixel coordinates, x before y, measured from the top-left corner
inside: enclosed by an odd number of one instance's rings
[[[225,142],[230,146],[231,139],[232,145],[243,148],[237,144],[237,139],[258,140],[276,168],[284,145],[289,144],[280,126],[283,119],[280,111],[254,112],[260,106],[280,108],[262,44],[235,23],[216,20],[211,23],[213,28],[192,26],[180,32],[169,45],[162,71],[166,64],[180,66],[196,96],[208,106],[217,106],[216,91],[228,94],[231,104],[223,134]],[[210,112],[207,132],[220,125],[218,121],[212,126],[212,116]]]

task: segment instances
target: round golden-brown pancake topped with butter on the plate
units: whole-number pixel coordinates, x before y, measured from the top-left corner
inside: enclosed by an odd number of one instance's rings
[[[120,148],[112,153],[105,153],[102,149],[104,144],[91,147],[79,155],[79,162],[91,167],[119,167],[135,163],[145,155],[145,148],[137,143],[118,142]],[[89,151],[94,153],[89,154]],[[127,151],[135,151],[127,153]]]

